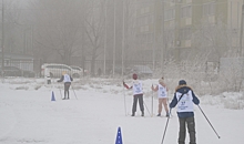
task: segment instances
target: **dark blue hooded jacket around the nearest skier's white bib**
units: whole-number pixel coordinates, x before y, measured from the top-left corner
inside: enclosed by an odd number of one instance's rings
[[[180,92],[180,93],[187,93],[189,91],[192,91],[191,88],[186,86],[186,85],[180,85],[177,89],[176,89],[176,92]],[[177,105],[177,99],[176,99],[176,92],[174,93],[174,97],[173,100],[171,101],[170,103],[170,107],[173,109],[174,106]],[[200,104],[200,100],[195,96],[194,92],[192,91],[192,96],[193,96],[193,100],[192,102],[194,104]],[[193,112],[177,112],[177,116],[179,117],[192,117],[194,116],[194,113]]]

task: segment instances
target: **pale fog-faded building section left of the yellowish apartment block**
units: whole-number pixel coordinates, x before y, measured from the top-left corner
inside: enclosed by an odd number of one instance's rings
[[[136,45],[138,60],[155,62],[159,55],[156,41],[161,32],[162,1],[136,1]]]

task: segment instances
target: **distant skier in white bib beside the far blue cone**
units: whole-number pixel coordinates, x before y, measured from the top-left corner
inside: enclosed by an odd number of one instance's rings
[[[70,99],[69,90],[70,90],[71,81],[73,81],[73,79],[69,74],[67,74],[67,72],[62,72],[61,79],[57,81],[57,82],[64,82],[64,97],[63,97],[63,100]]]

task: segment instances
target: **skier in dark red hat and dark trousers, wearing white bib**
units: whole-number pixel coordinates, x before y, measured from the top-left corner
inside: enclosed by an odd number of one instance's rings
[[[132,78],[133,78],[133,82],[130,88],[128,86],[128,84],[125,84],[125,82],[123,82],[123,85],[126,89],[133,89],[133,106],[132,106],[132,115],[131,116],[134,116],[134,114],[136,112],[138,101],[139,101],[140,110],[142,112],[141,116],[144,116],[142,83],[138,80],[138,74],[134,73],[132,75]]]

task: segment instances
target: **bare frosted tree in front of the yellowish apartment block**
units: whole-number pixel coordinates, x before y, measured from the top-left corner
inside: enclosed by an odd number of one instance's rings
[[[236,54],[235,50],[231,50],[232,39],[227,25],[220,19],[216,23],[203,21],[195,29],[193,33],[193,45],[195,45],[200,53],[211,53],[210,59],[214,59],[215,61],[220,61],[222,56]]]

